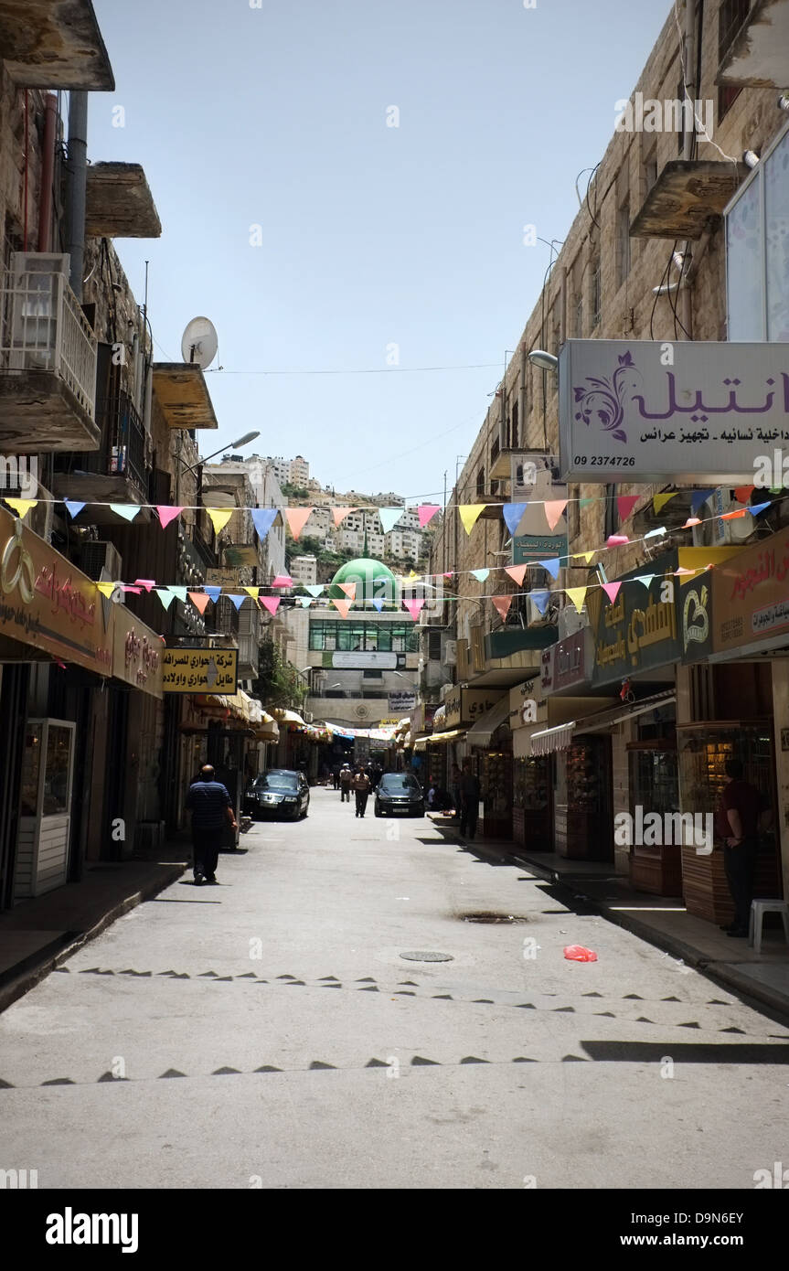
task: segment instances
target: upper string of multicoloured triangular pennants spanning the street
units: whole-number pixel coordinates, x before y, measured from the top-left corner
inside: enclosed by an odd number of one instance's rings
[[[734,498],[738,503],[747,503],[755,486],[741,486],[734,491]],[[653,494],[652,505],[656,512],[659,512],[670,500],[676,498],[680,491],[672,491],[664,494]],[[699,525],[700,521],[696,513],[700,511],[701,506],[709,498],[709,491],[694,491],[691,494],[691,516],[686,521],[682,529],[692,525]],[[590,496],[584,498],[560,498],[560,500],[529,500],[523,503],[450,503],[447,505],[447,511],[456,507],[461,524],[466,531],[470,534],[476,521],[485,511],[487,507],[501,507],[502,517],[507,529],[512,535],[517,533],[518,525],[523,519],[526,510],[530,506],[541,505],[545,511],[545,520],[550,530],[555,529],[560,521],[568,503],[578,503],[581,507],[588,503],[602,502],[609,498],[616,498],[616,506],[621,521],[626,521],[631,515],[633,508],[638,503],[640,494],[600,494]],[[292,538],[299,541],[310,516],[313,512],[323,510],[321,507],[203,507],[202,505],[170,505],[170,503],[107,503],[107,502],[88,502],[83,500],[71,498],[51,498],[51,500],[36,500],[36,498],[6,498],[5,502],[13,507],[17,513],[22,517],[27,515],[30,508],[36,507],[39,502],[46,503],[62,503],[71,520],[79,516],[79,513],[85,507],[109,507],[112,512],[119,516],[125,521],[133,521],[142,508],[154,510],[159,517],[159,522],[163,529],[166,529],[172,521],[174,521],[182,512],[187,511],[205,511],[211,519],[215,534],[220,534],[227,521],[234,515],[234,512],[249,512],[255,530],[260,539],[264,539],[272,525],[277,520],[278,515],[282,515]],[[755,503],[751,507],[737,508],[732,512],[723,512],[715,517],[715,520],[728,520],[737,516],[745,516],[746,512],[757,515],[762,512],[770,502]],[[441,511],[438,503],[419,503],[415,508],[404,507],[329,507],[328,511],[332,512],[334,526],[338,529],[344,519],[351,515],[351,512],[377,512],[381,521],[381,527],[385,534],[396,525],[396,522],[405,515],[407,511],[415,511],[419,517],[419,529],[424,529],[432,519]]]

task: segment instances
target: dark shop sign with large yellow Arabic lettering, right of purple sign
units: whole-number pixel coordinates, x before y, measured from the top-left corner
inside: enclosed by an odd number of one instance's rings
[[[668,552],[621,576],[623,581],[652,573],[644,583],[629,582],[611,602],[602,587],[587,597],[595,639],[592,685],[615,684],[640,671],[678,661],[676,552]],[[619,581],[619,580],[617,580]]]

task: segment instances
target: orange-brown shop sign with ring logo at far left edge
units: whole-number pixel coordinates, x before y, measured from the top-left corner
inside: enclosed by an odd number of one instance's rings
[[[91,578],[0,508],[0,638],[112,675],[116,606],[104,614],[100,599]],[[1,660],[19,656],[3,649]]]

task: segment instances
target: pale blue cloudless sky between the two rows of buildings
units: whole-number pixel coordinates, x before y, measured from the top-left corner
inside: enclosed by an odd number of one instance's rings
[[[146,170],[164,233],[116,245],[138,301],[150,259],[156,356],[197,314],[220,336],[203,452],[258,428],[337,489],[451,489],[550,258],[523,225],[565,236],[670,0],[94,5],[89,155]]]

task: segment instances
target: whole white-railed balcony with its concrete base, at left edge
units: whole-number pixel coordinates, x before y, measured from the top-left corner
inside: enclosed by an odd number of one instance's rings
[[[17,253],[0,276],[0,450],[95,450],[97,338],[67,255]]]

